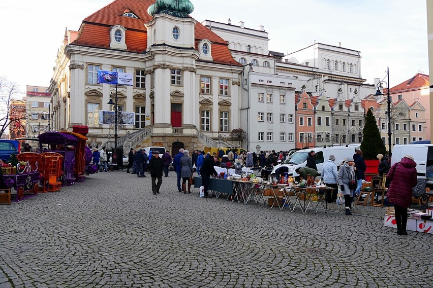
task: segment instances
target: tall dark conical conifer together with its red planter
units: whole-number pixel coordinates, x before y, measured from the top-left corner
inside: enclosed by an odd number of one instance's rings
[[[386,154],[385,144],[379,132],[376,118],[371,110],[367,110],[365,116],[364,130],[362,131],[361,143],[362,156],[365,165],[365,180],[369,181],[372,176],[378,174],[379,159],[378,154]]]

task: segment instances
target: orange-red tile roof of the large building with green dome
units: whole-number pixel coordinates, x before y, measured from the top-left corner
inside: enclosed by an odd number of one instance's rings
[[[147,48],[147,30],[144,24],[153,18],[147,14],[147,8],[155,3],[154,0],[116,0],[97,12],[86,17],[80,26],[78,38],[73,45],[110,48],[110,27],[121,25],[126,30],[126,45],[128,52],[140,52]],[[126,11],[133,12],[138,19],[122,16]],[[195,25],[196,43],[207,39],[212,43],[211,55],[213,62],[242,66],[235,59],[228,48],[227,42],[201,23]],[[197,45],[196,45],[197,49]]]

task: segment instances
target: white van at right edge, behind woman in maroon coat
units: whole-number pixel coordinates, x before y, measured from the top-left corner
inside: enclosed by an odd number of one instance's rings
[[[426,179],[426,185],[433,186],[433,144],[394,145],[391,166],[405,155],[414,157],[418,179]]]

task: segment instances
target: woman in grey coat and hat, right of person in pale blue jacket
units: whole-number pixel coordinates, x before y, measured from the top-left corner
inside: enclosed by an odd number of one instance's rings
[[[342,194],[344,196],[344,203],[346,207],[346,215],[352,215],[350,210],[352,210],[352,202],[353,202],[353,192],[355,191],[356,184],[356,175],[353,169],[353,165],[355,162],[353,161],[352,156],[346,157],[346,160],[337,173],[337,181]]]

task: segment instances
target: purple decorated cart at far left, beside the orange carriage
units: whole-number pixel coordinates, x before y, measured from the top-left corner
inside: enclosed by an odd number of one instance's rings
[[[3,178],[8,187],[13,187],[16,194],[16,201],[36,196],[39,191],[39,177],[38,162],[36,162],[35,170],[32,169],[29,162],[22,167],[20,164],[17,166],[16,174],[4,174]],[[31,193],[30,195],[25,195]]]

